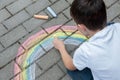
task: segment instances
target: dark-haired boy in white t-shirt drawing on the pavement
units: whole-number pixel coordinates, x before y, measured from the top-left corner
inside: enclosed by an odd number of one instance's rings
[[[73,59],[63,41],[53,41],[72,80],[120,80],[120,24],[106,24],[103,0],[74,0],[70,13],[78,30],[89,37]]]

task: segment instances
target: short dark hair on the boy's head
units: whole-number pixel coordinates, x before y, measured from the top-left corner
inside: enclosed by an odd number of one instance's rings
[[[70,14],[77,24],[84,24],[89,30],[103,29],[107,23],[103,0],[74,0]]]

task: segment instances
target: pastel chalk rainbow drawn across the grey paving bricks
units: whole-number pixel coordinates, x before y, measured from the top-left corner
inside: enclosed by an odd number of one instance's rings
[[[52,33],[54,30],[58,29],[61,25],[53,26],[46,31],[48,33]],[[29,37],[18,49],[16,63],[19,64],[21,68],[26,68],[30,64],[32,64],[35,60],[40,58],[43,54],[45,54],[44,50],[41,46],[43,46],[46,50],[49,50],[53,47],[53,35],[58,36],[60,39],[65,39],[65,44],[73,44],[78,45],[87,38],[83,36],[80,32],[76,32],[71,36],[68,36],[77,30],[76,26],[62,26],[64,30],[56,30],[56,32],[47,36],[47,33],[44,30],[36,33],[35,35]],[[66,35],[66,34],[67,35]],[[21,72],[21,68],[14,64],[14,74],[18,74],[14,80],[34,80],[35,79],[35,64],[29,66],[26,70]],[[20,73],[21,72],[21,73]]]

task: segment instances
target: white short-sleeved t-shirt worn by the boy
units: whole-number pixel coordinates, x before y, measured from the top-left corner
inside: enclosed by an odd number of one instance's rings
[[[120,23],[97,32],[73,56],[77,69],[91,69],[94,80],[120,80]]]

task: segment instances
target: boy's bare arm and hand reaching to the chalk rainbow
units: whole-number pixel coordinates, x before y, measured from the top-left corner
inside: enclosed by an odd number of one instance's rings
[[[58,38],[55,38],[53,44],[55,48],[59,50],[65,67],[68,70],[75,70],[76,67],[73,65],[72,57],[66,51],[63,41],[59,40]]]

